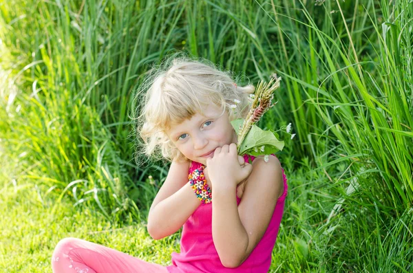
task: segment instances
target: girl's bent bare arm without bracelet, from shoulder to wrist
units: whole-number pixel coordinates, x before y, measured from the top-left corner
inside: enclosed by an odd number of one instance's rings
[[[268,162],[256,158],[239,206],[235,188],[229,184],[214,183],[212,234],[222,265],[238,267],[268,228],[277,199],[284,190],[282,168],[276,157],[270,156]]]

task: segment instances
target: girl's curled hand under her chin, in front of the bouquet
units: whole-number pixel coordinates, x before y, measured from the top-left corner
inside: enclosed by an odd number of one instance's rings
[[[244,162],[244,157],[237,155],[235,143],[215,149],[213,157],[207,159],[207,166],[211,188],[236,188],[253,171],[253,166]]]

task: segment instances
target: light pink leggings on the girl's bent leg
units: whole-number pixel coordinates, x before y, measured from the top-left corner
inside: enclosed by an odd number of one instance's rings
[[[59,241],[52,255],[52,269],[54,273],[180,272],[174,265],[165,267],[148,263],[118,250],[76,238]]]

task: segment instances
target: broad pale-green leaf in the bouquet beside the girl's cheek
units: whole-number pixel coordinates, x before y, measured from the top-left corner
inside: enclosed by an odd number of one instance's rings
[[[243,123],[243,119],[237,119],[231,122],[237,135],[239,135],[240,127]],[[262,151],[262,146],[264,146],[264,151]],[[281,151],[283,148],[284,141],[277,140],[273,132],[264,131],[260,129],[260,127],[253,125],[242,141],[240,147],[238,147],[238,153],[240,155],[248,154],[254,156],[269,155]]]

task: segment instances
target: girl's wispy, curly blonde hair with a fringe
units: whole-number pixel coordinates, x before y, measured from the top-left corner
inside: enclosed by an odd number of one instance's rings
[[[248,94],[254,90],[253,85],[236,85],[231,72],[223,72],[209,61],[167,58],[149,71],[134,98],[140,106],[135,118],[138,154],[154,160],[187,160],[167,136],[171,124],[202,114],[210,103],[227,113],[230,121],[244,118],[251,105]]]

